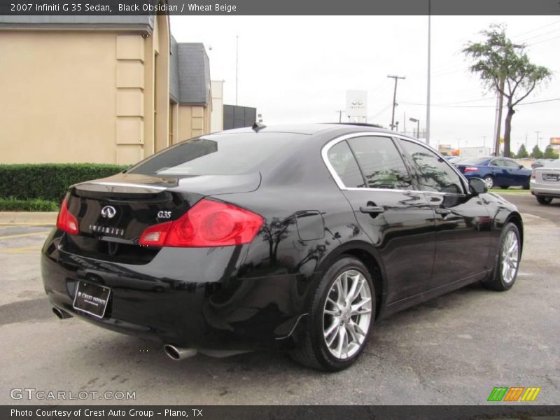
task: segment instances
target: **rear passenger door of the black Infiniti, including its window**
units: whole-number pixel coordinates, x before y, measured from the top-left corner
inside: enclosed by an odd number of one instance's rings
[[[433,210],[414,190],[393,139],[351,134],[328,147],[333,176],[384,265],[386,302],[426,290],[435,255]]]

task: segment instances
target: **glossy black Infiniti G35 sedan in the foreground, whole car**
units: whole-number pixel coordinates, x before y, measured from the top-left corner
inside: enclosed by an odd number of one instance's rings
[[[42,273],[60,318],[172,358],[276,346],[332,371],[379,318],[476,281],[511,288],[522,239],[512,204],[415,139],[255,125],[71,186]]]

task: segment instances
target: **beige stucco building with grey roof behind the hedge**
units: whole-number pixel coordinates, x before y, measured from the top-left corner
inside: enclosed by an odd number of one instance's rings
[[[209,59],[166,15],[0,17],[0,163],[130,164],[210,132]]]

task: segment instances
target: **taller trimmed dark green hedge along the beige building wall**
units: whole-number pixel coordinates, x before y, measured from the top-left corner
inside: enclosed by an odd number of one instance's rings
[[[98,163],[0,165],[0,197],[60,202],[72,184],[105,178],[126,169]]]

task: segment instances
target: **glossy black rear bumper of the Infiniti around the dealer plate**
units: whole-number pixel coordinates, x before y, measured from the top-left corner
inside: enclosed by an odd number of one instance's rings
[[[162,248],[143,265],[64,251],[54,230],[41,272],[53,306],[109,330],[199,349],[290,348],[301,311],[279,289],[297,290],[295,274],[239,279],[247,246]],[[111,288],[104,318],[72,307],[78,281]]]

